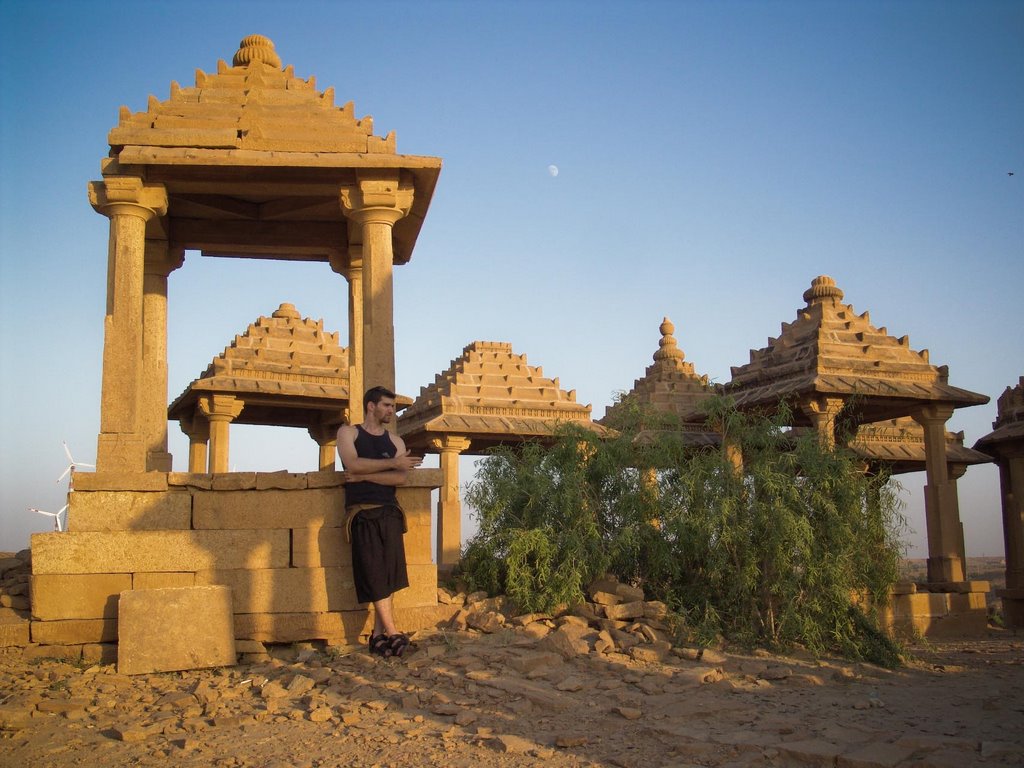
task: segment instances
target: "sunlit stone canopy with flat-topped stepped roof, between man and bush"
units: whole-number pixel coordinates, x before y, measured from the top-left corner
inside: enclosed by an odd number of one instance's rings
[[[440,454],[437,501],[437,568],[450,571],[462,547],[459,455],[497,445],[551,442],[560,424],[577,424],[598,434],[608,430],[591,421],[591,407],[575,401],[512,345],[474,341],[451,367],[423,387],[398,417],[398,434],[414,452]]]

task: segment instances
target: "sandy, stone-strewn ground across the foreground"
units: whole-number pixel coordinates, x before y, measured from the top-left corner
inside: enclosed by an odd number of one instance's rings
[[[896,671],[727,651],[566,660],[511,630],[416,639],[401,659],[290,647],[135,677],[5,649],[0,766],[1024,765],[1021,634],[918,646]]]

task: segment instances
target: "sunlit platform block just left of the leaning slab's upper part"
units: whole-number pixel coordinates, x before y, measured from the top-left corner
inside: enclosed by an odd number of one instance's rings
[[[32,577],[32,615],[117,618],[118,595],[132,588],[131,573],[40,573]]]

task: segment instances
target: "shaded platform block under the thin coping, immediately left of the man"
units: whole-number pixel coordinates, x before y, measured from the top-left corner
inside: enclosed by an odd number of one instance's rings
[[[343,518],[340,488],[198,490],[193,503],[193,526],[201,530],[340,526]]]

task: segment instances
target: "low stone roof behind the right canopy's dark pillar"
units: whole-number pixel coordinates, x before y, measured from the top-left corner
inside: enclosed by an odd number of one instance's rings
[[[925,430],[908,416],[861,424],[850,449],[863,459],[888,464],[896,474],[925,469]],[[964,444],[963,432],[946,432],[947,463],[972,465],[990,461],[985,454]]]

